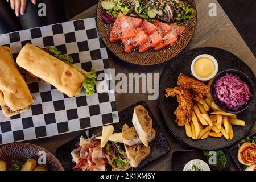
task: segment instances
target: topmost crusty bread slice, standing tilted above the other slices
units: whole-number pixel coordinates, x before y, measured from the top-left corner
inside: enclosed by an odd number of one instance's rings
[[[133,125],[137,131],[139,139],[141,139],[144,146],[147,147],[151,137],[153,123],[147,110],[142,105],[138,105],[134,108]]]

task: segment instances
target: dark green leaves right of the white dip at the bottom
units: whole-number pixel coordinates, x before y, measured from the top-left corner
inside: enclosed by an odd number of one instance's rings
[[[203,151],[203,152],[204,152],[204,156],[207,158],[207,160],[209,160],[212,155],[209,155],[209,151]],[[212,166],[214,166],[218,171],[222,171],[225,169],[226,162],[228,162],[228,159],[226,158],[226,155],[222,150],[217,150],[216,155],[217,155],[217,161],[216,161],[217,163],[212,164]]]

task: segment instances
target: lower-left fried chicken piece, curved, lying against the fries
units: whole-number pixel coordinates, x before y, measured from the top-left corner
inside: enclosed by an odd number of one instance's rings
[[[179,107],[175,111],[175,115],[177,119],[175,122],[179,126],[184,126],[185,124],[191,122],[191,115],[193,110],[193,100],[189,90],[182,89],[180,87],[175,88],[167,88],[166,89],[166,97],[177,97],[177,101],[179,103]]]

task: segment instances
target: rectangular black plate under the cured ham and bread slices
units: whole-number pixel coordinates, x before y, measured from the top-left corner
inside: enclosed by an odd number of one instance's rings
[[[144,159],[141,162],[141,164],[139,164],[139,166],[137,168],[135,168],[135,170],[139,170],[142,167],[144,167],[146,164],[152,162],[153,160],[159,158],[160,156],[162,156],[164,154],[167,154],[167,152],[170,151],[170,149],[171,149],[167,142],[166,137],[164,137],[164,134],[162,133],[162,131],[158,125],[158,122],[155,120],[149,107],[147,106],[146,102],[144,102],[144,101],[137,102],[136,104],[128,107],[125,110],[122,110],[119,113],[120,122],[114,124],[114,128],[115,128],[114,133],[121,132],[122,126],[125,123],[127,123],[130,127],[133,126],[133,123],[131,122],[131,118],[133,118],[134,107],[138,106],[138,105],[143,105],[145,107],[145,109],[147,109],[148,114],[152,118],[153,127],[156,131],[156,137],[150,143],[150,148],[151,148],[150,155],[148,155],[148,157],[146,159]],[[89,135],[90,136],[92,134],[96,135],[98,133],[101,133],[101,131],[102,131],[102,127],[89,129]],[[83,133],[81,135],[84,135],[86,137],[85,133]],[[71,151],[73,149],[77,148],[75,146],[75,144],[80,140],[81,135],[79,135],[76,138],[72,139],[71,141],[65,143],[63,146],[60,146],[56,150],[56,156],[60,160],[60,163],[62,164],[62,166],[64,167],[65,170],[70,171],[75,166],[75,164],[72,163],[72,161],[71,161],[72,160]]]

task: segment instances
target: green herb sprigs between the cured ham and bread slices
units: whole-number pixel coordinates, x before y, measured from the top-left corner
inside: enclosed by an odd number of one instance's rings
[[[125,164],[129,163],[126,152],[121,149],[121,147],[114,142],[112,144],[106,144],[106,152],[109,155],[111,161],[110,165],[112,168],[118,167],[123,168]]]

